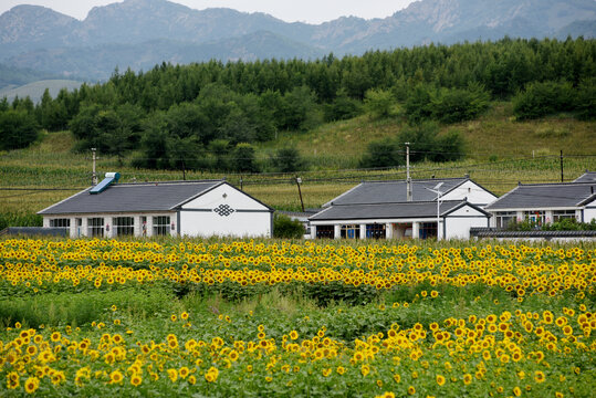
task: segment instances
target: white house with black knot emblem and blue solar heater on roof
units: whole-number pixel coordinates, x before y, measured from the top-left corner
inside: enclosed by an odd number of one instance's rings
[[[115,184],[106,178],[38,213],[43,227],[65,228],[71,238],[273,234],[273,209],[223,180]]]

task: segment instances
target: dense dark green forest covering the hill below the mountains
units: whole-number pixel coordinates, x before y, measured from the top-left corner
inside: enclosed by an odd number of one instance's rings
[[[0,150],[29,146],[41,129],[70,129],[77,150],[95,147],[139,168],[257,172],[253,145],[276,132],[300,134],[368,114],[401,118],[402,135],[432,143],[431,153],[440,155],[433,160],[452,160],[461,156],[453,149],[461,137],[439,137],[437,126],[473,119],[493,101],[511,101],[520,121],[562,112],[593,119],[595,60],[595,40],[505,38],[314,61],[116,69],[102,84],[63,90],[55,98],[46,91],[39,104],[0,100]],[[363,166],[397,161],[391,145],[372,143]],[[271,157],[275,170],[300,166],[294,148]]]

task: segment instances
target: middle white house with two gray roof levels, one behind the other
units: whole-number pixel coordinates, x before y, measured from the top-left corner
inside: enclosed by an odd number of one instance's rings
[[[470,228],[489,226],[482,207],[496,199],[467,177],[412,180],[410,201],[407,191],[402,180],[362,182],[309,219],[311,235],[468,239]]]

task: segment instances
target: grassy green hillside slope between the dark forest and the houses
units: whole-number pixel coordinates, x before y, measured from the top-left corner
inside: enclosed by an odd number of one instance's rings
[[[461,177],[469,174],[485,188],[502,195],[517,181],[545,182],[561,179],[560,150],[564,151],[564,177],[573,180],[586,169],[596,169],[596,123],[578,122],[558,115],[533,122],[514,122],[509,103],[495,103],[484,116],[450,127],[466,138],[468,158],[446,164],[412,165],[415,178]],[[266,161],[271,150],[292,145],[311,163],[310,170],[290,175],[234,175],[188,171],[187,179],[226,177],[249,193],[276,209],[299,210],[293,176],[303,179],[302,193],[307,208],[316,208],[360,180],[401,179],[405,169],[356,170],[355,165],[373,139],[394,136],[404,126],[396,121],[372,122],[367,116],[336,122],[301,135],[279,135],[258,147],[258,159]],[[51,133],[28,149],[1,155],[0,189],[3,217],[23,220],[91,181],[90,154],[72,151],[75,142],[69,132]],[[101,156],[100,175],[117,170],[123,181],[179,180],[181,171],[145,170],[121,164],[116,157]],[[315,164],[316,161],[316,164]],[[4,190],[20,187],[24,191]],[[31,190],[27,189],[49,189]],[[22,222],[22,221],[20,221]]]

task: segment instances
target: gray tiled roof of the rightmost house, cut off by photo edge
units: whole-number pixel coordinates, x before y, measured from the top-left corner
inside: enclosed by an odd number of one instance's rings
[[[596,184],[521,185],[503,195],[485,210],[574,208],[582,206],[596,191]]]

